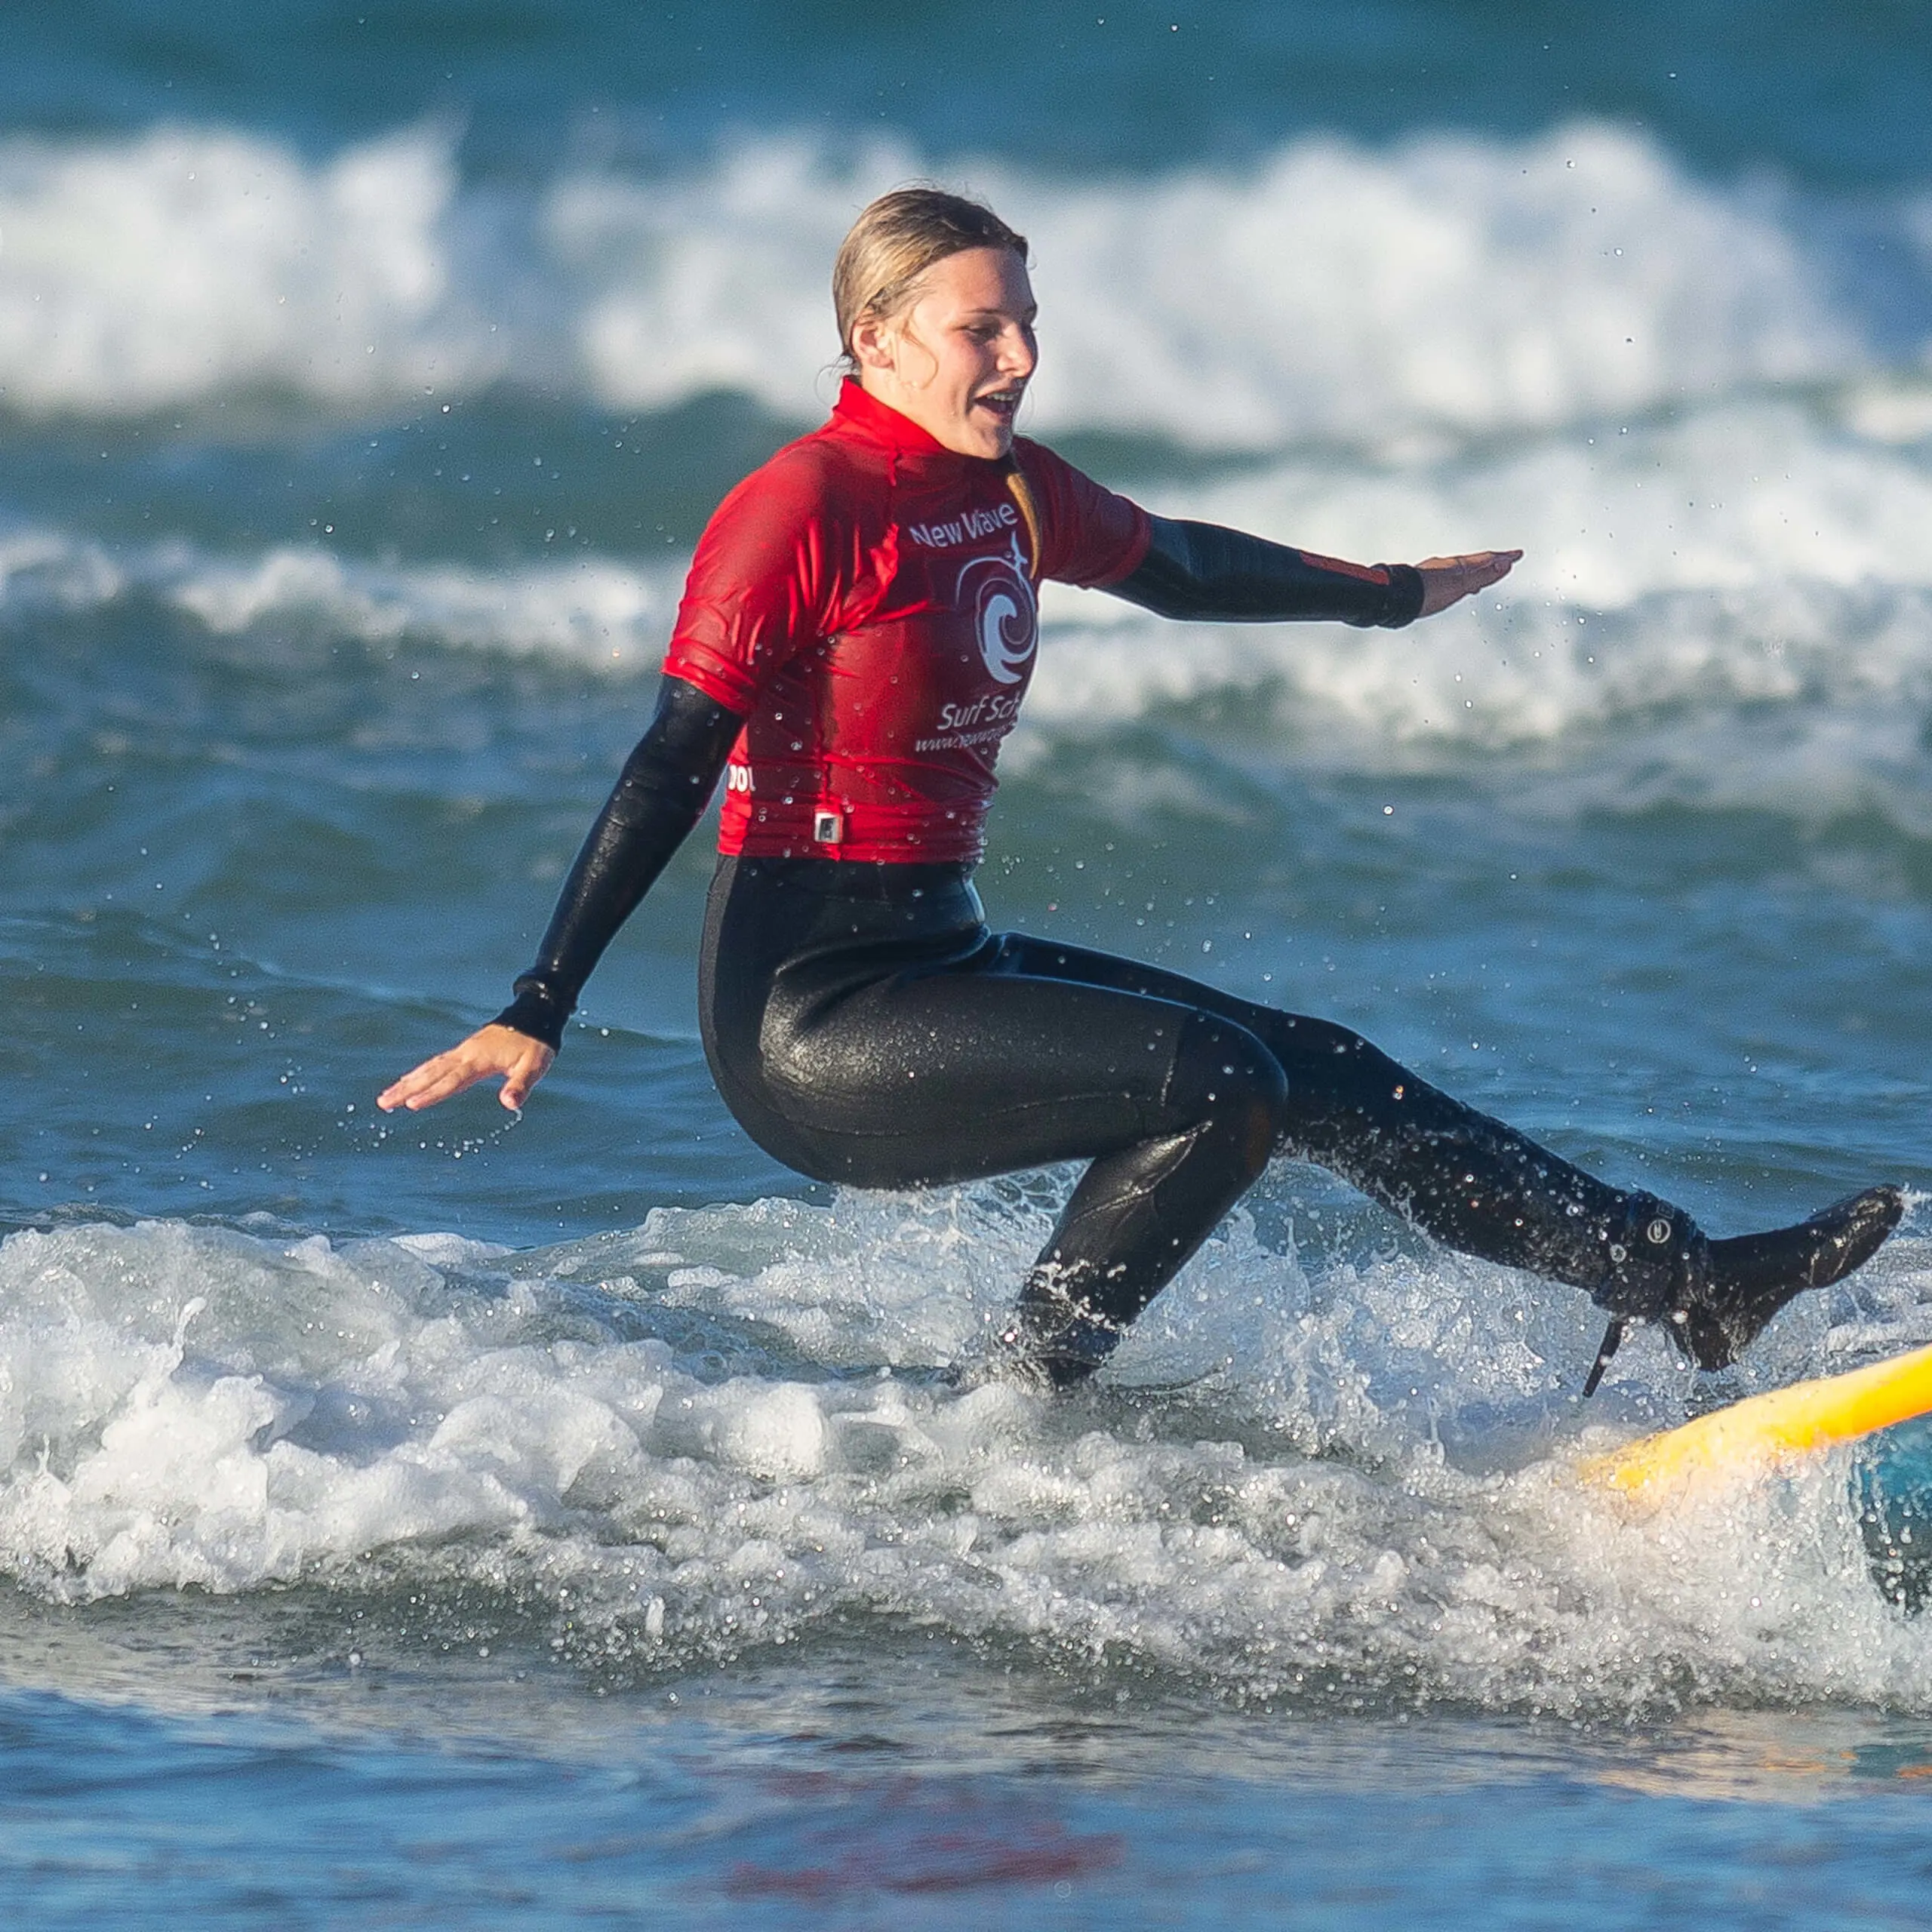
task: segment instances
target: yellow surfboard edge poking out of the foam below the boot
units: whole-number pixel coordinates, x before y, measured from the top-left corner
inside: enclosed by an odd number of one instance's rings
[[[1644,1507],[1748,1480],[1833,1443],[1932,1412],[1932,1347],[1843,1376],[1795,1381],[1658,1435],[1642,1435],[1578,1466],[1586,1484]]]

